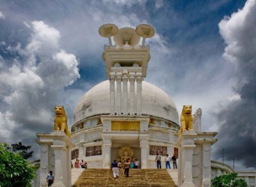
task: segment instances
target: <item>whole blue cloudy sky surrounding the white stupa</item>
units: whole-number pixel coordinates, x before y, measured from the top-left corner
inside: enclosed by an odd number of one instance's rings
[[[98,28],[151,24],[147,82],[182,106],[203,110],[202,130],[218,131],[212,159],[256,169],[256,0],[0,0],[0,141],[35,151],[50,133],[54,106],[73,125],[76,104],[108,79],[108,40]],[[233,167],[233,165],[232,165]]]

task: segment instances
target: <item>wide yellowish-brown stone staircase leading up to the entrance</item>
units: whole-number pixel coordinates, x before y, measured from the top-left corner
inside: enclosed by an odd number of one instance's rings
[[[75,170],[75,171],[74,171]],[[174,170],[174,169],[171,169]],[[168,172],[171,172],[169,174]],[[168,171],[166,169],[132,169],[129,177],[123,175],[123,169],[119,169],[119,178],[113,178],[113,172],[110,169],[72,169],[73,187],[81,186],[169,186],[176,187],[177,181],[171,176],[175,176],[177,171]],[[81,175],[78,177],[79,173]],[[76,180],[76,179],[77,180]],[[175,177],[175,180],[177,178]]]

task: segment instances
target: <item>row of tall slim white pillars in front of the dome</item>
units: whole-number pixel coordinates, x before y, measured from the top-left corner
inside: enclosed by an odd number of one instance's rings
[[[129,81],[128,81],[129,80]],[[140,115],[142,106],[142,73],[110,72],[110,114],[112,115]],[[116,92],[115,92],[115,82]],[[135,82],[137,93],[135,97]],[[130,98],[128,98],[128,83],[130,83]],[[129,101],[129,100],[130,101]],[[129,101],[129,102],[128,102]],[[128,106],[129,103],[129,106]]]

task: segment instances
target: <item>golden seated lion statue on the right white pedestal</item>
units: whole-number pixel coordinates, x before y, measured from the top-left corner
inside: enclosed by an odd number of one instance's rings
[[[179,136],[182,134],[185,130],[193,130],[193,118],[191,115],[192,112],[192,106],[191,105],[183,105],[183,109],[180,115],[180,130],[179,130]]]

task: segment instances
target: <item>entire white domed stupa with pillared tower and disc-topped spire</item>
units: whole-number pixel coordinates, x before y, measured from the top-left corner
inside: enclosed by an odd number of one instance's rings
[[[127,151],[126,157],[140,160],[141,168],[155,168],[156,152],[175,152],[179,117],[171,97],[143,81],[150,60],[145,39],[154,36],[154,28],[141,24],[136,30],[118,30],[105,24],[99,33],[109,37],[102,54],[109,80],[86,92],[76,105],[72,159],[86,160],[89,168],[109,168],[111,160],[122,159]]]

